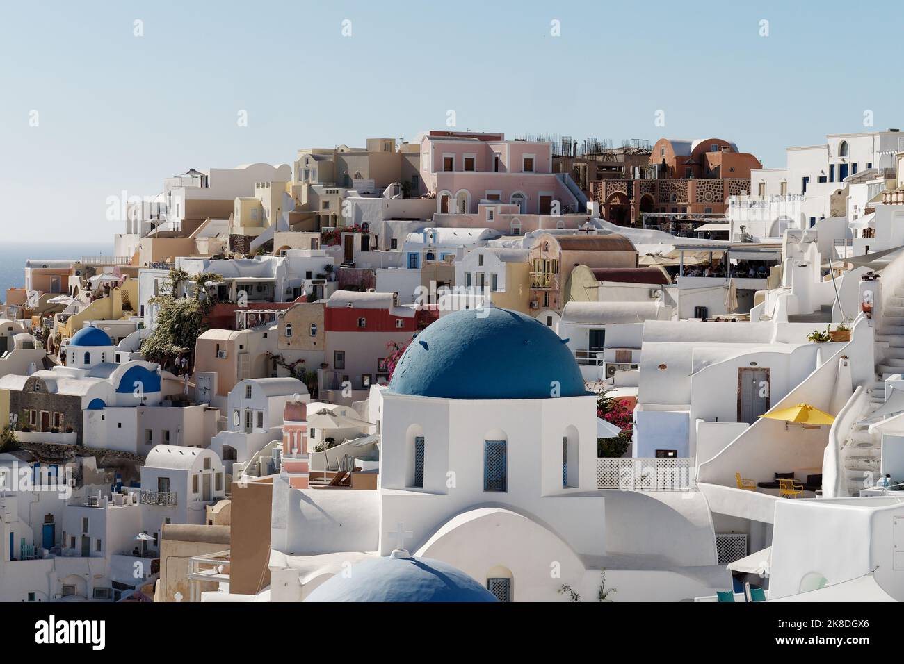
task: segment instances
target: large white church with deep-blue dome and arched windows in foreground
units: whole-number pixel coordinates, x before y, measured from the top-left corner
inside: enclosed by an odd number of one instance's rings
[[[493,307],[442,316],[415,336],[390,384],[371,388],[377,491],[293,490],[275,479],[271,600],[441,596],[406,581],[423,571],[410,562],[365,568],[400,589],[357,584],[357,566],[336,578],[362,556],[342,551],[374,549],[449,566],[502,602],[561,601],[563,584],[595,592],[599,569],[586,561],[606,552],[596,398],[565,342],[530,316]],[[314,561],[306,552],[335,553]]]

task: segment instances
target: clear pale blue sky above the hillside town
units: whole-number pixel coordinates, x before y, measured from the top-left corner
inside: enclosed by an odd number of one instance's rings
[[[0,195],[16,230],[0,241],[111,241],[123,190],[410,139],[447,110],[510,137],[719,136],[781,166],[788,145],[866,131],[867,110],[904,128],[899,17],[897,2],[787,0],[5,2]]]

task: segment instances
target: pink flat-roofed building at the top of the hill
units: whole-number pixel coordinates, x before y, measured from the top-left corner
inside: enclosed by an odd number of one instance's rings
[[[481,201],[522,214],[580,212],[577,185],[552,173],[552,144],[506,141],[503,134],[431,131],[420,144],[420,172],[439,214],[476,214]]]

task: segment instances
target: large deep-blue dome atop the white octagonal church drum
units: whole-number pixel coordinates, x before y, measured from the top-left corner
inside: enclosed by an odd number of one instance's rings
[[[402,353],[390,389],[458,399],[582,397],[578,363],[559,335],[508,309],[449,313],[428,325]]]

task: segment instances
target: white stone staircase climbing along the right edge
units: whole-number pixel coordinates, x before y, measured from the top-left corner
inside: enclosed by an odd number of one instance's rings
[[[789,316],[790,318],[790,316]],[[904,288],[896,288],[882,306],[882,321],[876,330],[876,380],[867,389],[869,399],[859,420],[851,427],[841,450],[844,486],[849,495],[857,496],[863,481],[872,474],[873,481],[880,477],[882,460],[882,436],[871,434],[869,427],[877,420],[872,414],[885,403],[885,380],[894,374],[904,373]],[[884,352],[880,345],[887,344]]]

